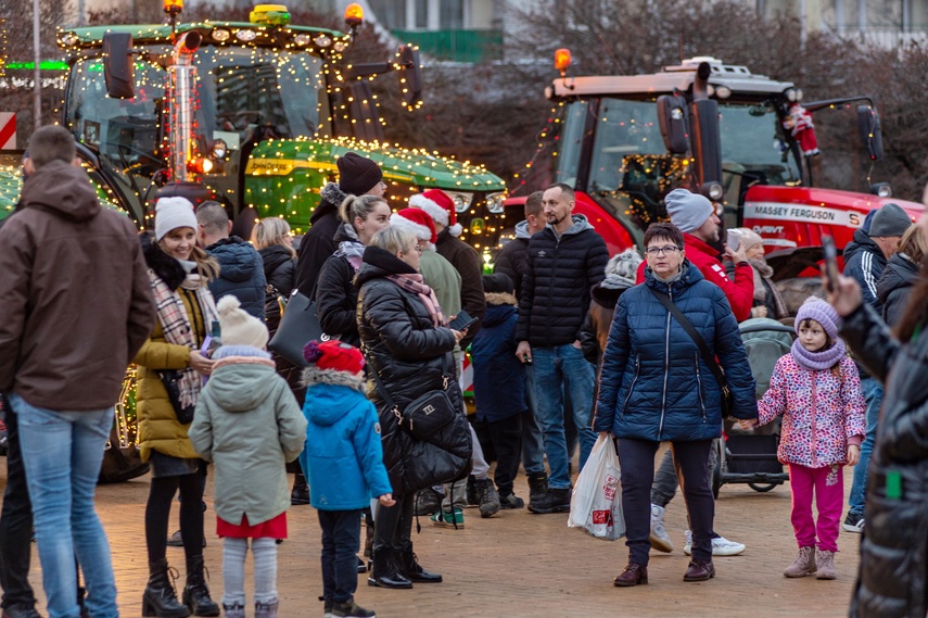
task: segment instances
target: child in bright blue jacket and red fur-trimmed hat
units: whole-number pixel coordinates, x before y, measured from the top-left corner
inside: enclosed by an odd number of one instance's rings
[[[309,481],[309,503],[322,528],[322,600],[326,616],[367,618],[354,594],[363,510],[377,499],[393,506],[383,466],[377,409],[364,395],[364,355],[341,341],[310,341],[303,349],[308,421],[300,464]]]

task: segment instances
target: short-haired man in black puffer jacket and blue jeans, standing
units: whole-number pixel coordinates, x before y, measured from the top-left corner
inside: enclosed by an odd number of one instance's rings
[[[529,268],[519,299],[516,356],[532,364],[530,388],[550,468],[547,491],[530,497],[532,513],[570,510],[564,390],[580,433],[581,469],[596,441],[589,428],[594,367],[581,351],[580,331],[589,310],[589,290],[606,277],[609,252],[586,217],[572,214],[574,204],[573,189],[567,185],[551,185],[545,191],[547,226],[529,241]]]

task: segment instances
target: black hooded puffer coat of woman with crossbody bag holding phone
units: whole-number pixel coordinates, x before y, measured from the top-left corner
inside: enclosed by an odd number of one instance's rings
[[[435,328],[419,297],[385,277],[415,270],[398,257],[368,247],[355,278],[358,295],[358,329],[369,369],[377,371],[394,403],[404,408],[416,398],[443,386],[443,364],[454,376],[455,336]],[[435,443],[416,440],[399,427],[392,409],[368,380],[367,396],[377,405],[383,441],[383,463],[396,495],[466,477],[472,444],[463,399],[457,380],[448,383],[448,396],[460,415],[435,432]]]

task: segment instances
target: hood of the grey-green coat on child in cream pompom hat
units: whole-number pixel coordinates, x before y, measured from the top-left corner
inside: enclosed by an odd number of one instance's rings
[[[224,361],[226,361],[224,358]],[[217,367],[206,390],[227,412],[249,412],[267,402],[277,386],[277,373],[271,361],[263,358],[236,358],[238,362]]]

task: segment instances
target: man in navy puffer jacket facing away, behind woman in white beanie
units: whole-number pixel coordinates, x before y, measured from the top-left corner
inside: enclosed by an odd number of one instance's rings
[[[242,310],[264,321],[267,278],[260,255],[250,242],[229,236],[232,222],[218,202],[203,202],[196,209],[196,242],[219,262],[219,276],[209,281],[216,302],[232,294]]]

